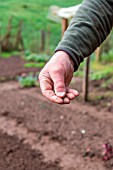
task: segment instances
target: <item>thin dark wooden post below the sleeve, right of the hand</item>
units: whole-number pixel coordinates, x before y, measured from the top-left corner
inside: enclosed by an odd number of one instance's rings
[[[90,56],[86,58],[86,64],[85,64],[85,69],[84,69],[83,98],[85,102],[88,101],[89,70],[90,70]]]

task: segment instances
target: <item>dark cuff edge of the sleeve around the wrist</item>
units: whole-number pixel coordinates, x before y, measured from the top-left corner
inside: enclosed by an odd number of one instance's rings
[[[73,60],[73,62],[74,62],[74,72],[77,71],[77,69],[79,67],[79,63],[77,62],[77,59],[75,58],[75,55],[70,50],[66,49],[65,47],[56,48],[55,49],[55,53],[57,51],[64,51],[64,52],[66,52],[70,56],[70,58]]]

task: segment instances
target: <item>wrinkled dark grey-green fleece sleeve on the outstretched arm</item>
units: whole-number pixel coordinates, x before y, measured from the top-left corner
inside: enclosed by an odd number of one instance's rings
[[[75,71],[106,39],[113,24],[113,0],[84,0],[73,17],[56,51],[65,51]]]

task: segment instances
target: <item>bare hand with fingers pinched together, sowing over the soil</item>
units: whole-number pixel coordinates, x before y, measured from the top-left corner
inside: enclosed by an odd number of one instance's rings
[[[58,104],[69,104],[79,93],[70,89],[74,64],[64,51],[56,52],[39,74],[42,94]]]

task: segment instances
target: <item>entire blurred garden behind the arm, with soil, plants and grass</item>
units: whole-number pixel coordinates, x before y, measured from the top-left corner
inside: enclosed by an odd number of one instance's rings
[[[83,100],[82,63],[71,82],[80,96],[69,105],[53,104],[42,96],[38,82],[40,70],[61,38],[61,24],[46,18],[50,5],[68,7],[75,1],[0,0],[0,38],[7,34],[12,16],[12,25],[23,21],[24,43],[24,50],[19,44],[16,51],[4,50],[0,55],[0,170],[111,170],[112,33],[109,44],[103,44],[100,61],[95,54],[91,57],[88,102]],[[11,34],[17,35],[17,28]],[[49,43],[42,38],[44,34],[50,37]],[[11,42],[15,42],[13,38]]]

